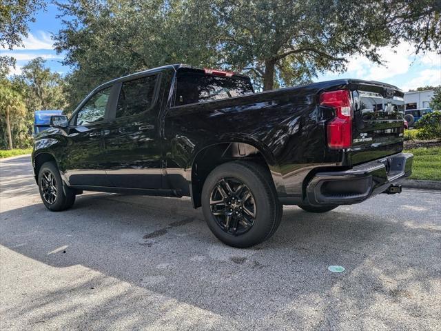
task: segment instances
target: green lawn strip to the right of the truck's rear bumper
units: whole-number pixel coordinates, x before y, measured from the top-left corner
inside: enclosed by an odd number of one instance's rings
[[[413,148],[405,152],[413,154],[410,179],[441,181],[441,147]]]

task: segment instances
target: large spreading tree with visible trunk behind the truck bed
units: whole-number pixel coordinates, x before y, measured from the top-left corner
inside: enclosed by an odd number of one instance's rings
[[[401,39],[416,52],[440,51],[439,1],[220,0],[227,63],[250,72],[263,89],[302,83],[325,70],[345,70],[362,54],[381,63],[380,46]]]

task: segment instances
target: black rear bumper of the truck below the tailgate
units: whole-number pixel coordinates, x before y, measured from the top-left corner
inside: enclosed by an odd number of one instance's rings
[[[318,172],[307,185],[307,202],[311,205],[360,203],[409,177],[412,160],[413,154],[399,153],[356,165],[351,170]]]

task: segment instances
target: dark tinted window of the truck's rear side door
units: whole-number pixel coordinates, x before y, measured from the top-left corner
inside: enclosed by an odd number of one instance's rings
[[[140,114],[153,106],[157,75],[125,81],[121,86],[116,118]]]

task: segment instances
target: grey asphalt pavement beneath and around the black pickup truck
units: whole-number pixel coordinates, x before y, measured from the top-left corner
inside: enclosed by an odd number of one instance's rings
[[[90,192],[49,212],[29,157],[0,172],[2,330],[441,330],[441,192],[285,207],[240,250],[189,199]]]

